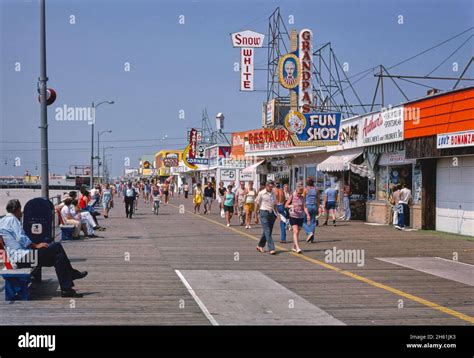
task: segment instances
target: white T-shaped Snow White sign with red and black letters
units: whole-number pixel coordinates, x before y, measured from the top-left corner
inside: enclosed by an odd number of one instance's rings
[[[253,91],[255,48],[263,46],[265,35],[245,30],[231,34],[232,46],[240,47],[240,90]]]

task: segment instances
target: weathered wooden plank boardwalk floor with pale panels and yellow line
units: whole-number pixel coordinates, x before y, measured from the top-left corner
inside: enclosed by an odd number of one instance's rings
[[[255,250],[259,225],[227,228],[216,208],[197,216],[191,205],[175,197],[154,216],[141,201],[132,220],[116,205],[101,221],[103,238],[64,244],[73,265],[89,271],[76,284],[85,297],[61,298],[46,268],[31,301],[0,302],[0,324],[474,323],[472,239],[343,222],[318,228],[317,243],[302,244],[304,255],[278,244],[270,256]],[[361,250],[363,265],[328,262],[326,250]],[[406,260],[417,257],[431,259]]]

